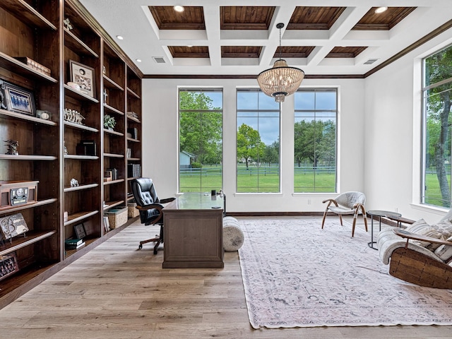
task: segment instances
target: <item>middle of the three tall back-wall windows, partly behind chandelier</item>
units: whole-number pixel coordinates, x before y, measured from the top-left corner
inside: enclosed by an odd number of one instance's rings
[[[280,105],[237,90],[237,192],[280,191]]]

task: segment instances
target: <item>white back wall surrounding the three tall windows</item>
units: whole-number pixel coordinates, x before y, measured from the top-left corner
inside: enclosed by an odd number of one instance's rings
[[[302,88],[338,88],[338,191],[364,191],[364,79],[305,79]],[[322,201],[336,194],[293,194],[294,102],[283,103],[281,193],[236,194],[236,90],[256,88],[254,79],[144,79],[143,176],[156,182],[159,196],[177,194],[178,86],[223,89],[223,189],[228,212],[323,211]]]

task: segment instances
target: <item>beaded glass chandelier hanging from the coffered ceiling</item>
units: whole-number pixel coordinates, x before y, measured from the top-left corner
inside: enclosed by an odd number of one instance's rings
[[[275,97],[276,102],[284,102],[287,95],[295,93],[304,78],[304,71],[287,66],[287,62],[281,59],[281,28],[283,27],[283,23],[276,25],[280,30],[280,59],[275,61],[273,68],[266,69],[257,76],[262,92]]]

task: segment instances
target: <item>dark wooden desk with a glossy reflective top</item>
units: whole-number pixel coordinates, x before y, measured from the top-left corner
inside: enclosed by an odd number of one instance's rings
[[[165,206],[163,268],[223,268],[220,196],[185,193]]]

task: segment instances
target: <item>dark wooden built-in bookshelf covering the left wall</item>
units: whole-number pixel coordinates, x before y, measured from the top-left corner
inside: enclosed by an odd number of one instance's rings
[[[0,135],[18,141],[19,153],[5,154],[4,145],[0,179],[38,182],[36,201],[13,205],[2,196],[0,218],[20,213],[28,231],[0,243],[0,256],[18,264],[16,272],[0,276],[1,308],[125,227],[106,234],[103,216],[131,200],[128,165],[141,165],[143,73],[77,0],[1,0],[0,8]],[[92,70],[91,92],[68,84],[74,63]],[[8,105],[4,82],[32,93],[35,109],[49,119]],[[65,109],[83,120],[65,119]],[[105,128],[105,114],[114,117],[114,129]],[[92,142],[94,151],[81,153],[81,141]],[[112,168],[117,177],[105,182]],[[85,246],[66,250],[64,241],[75,237],[78,224]]]

